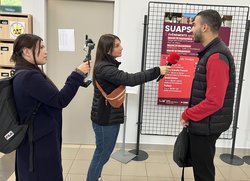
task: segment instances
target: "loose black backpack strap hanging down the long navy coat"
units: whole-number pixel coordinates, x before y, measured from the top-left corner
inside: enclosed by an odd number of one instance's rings
[[[41,103],[39,102],[36,107],[34,108],[32,114],[30,115],[27,123],[28,123],[28,137],[29,137],[29,172],[33,172],[34,166],[33,166],[33,155],[34,155],[34,147],[33,147],[33,120],[35,119],[38,109],[41,106]]]

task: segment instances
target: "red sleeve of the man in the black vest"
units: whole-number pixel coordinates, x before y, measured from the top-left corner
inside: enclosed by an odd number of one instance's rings
[[[229,82],[229,66],[227,58],[219,53],[209,57],[206,66],[207,90],[206,98],[199,104],[187,108],[182,119],[200,121],[218,111],[224,104]]]

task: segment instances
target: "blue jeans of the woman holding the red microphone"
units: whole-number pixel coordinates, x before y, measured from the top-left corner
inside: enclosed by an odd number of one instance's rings
[[[87,181],[98,181],[102,168],[108,162],[115,147],[120,124],[102,126],[92,122],[95,132],[96,149],[89,166]]]

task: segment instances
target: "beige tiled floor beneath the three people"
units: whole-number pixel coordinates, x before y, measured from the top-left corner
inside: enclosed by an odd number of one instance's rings
[[[182,170],[173,162],[171,150],[145,150],[149,155],[148,159],[130,161],[127,164],[111,158],[104,167],[102,177],[105,181],[180,181]],[[63,174],[66,181],[86,180],[93,151],[94,146],[90,145],[63,145]],[[215,157],[216,181],[250,181],[250,165],[246,163],[241,166],[226,164],[219,158],[221,153],[224,151],[217,150]],[[246,154],[250,155],[250,150],[237,153],[240,157]],[[14,154],[9,155],[10,159],[6,159],[6,156],[0,155],[2,157],[0,159],[0,181],[6,180],[4,175],[10,176],[8,181],[14,181]],[[8,164],[3,163],[4,158],[5,162],[9,162]],[[192,180],[194,180],[192,168],[186,168],[185,181]]]

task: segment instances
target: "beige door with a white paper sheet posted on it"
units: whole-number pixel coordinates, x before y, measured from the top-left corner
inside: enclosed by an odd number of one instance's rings
[[[85,35],[95,42],[92,51],[92,66],[98,39],[102,34],[113,32],[114,2],[48,0],[47,17],[47,73],[59,89],[67,76],[85,58],[83,51]],[[73,29],[75,51],[59,51],[58,29]],[[93,98],[92,84],[80,88],[72,102],[63,110],[63,143],[94,144],[90,120]]]

